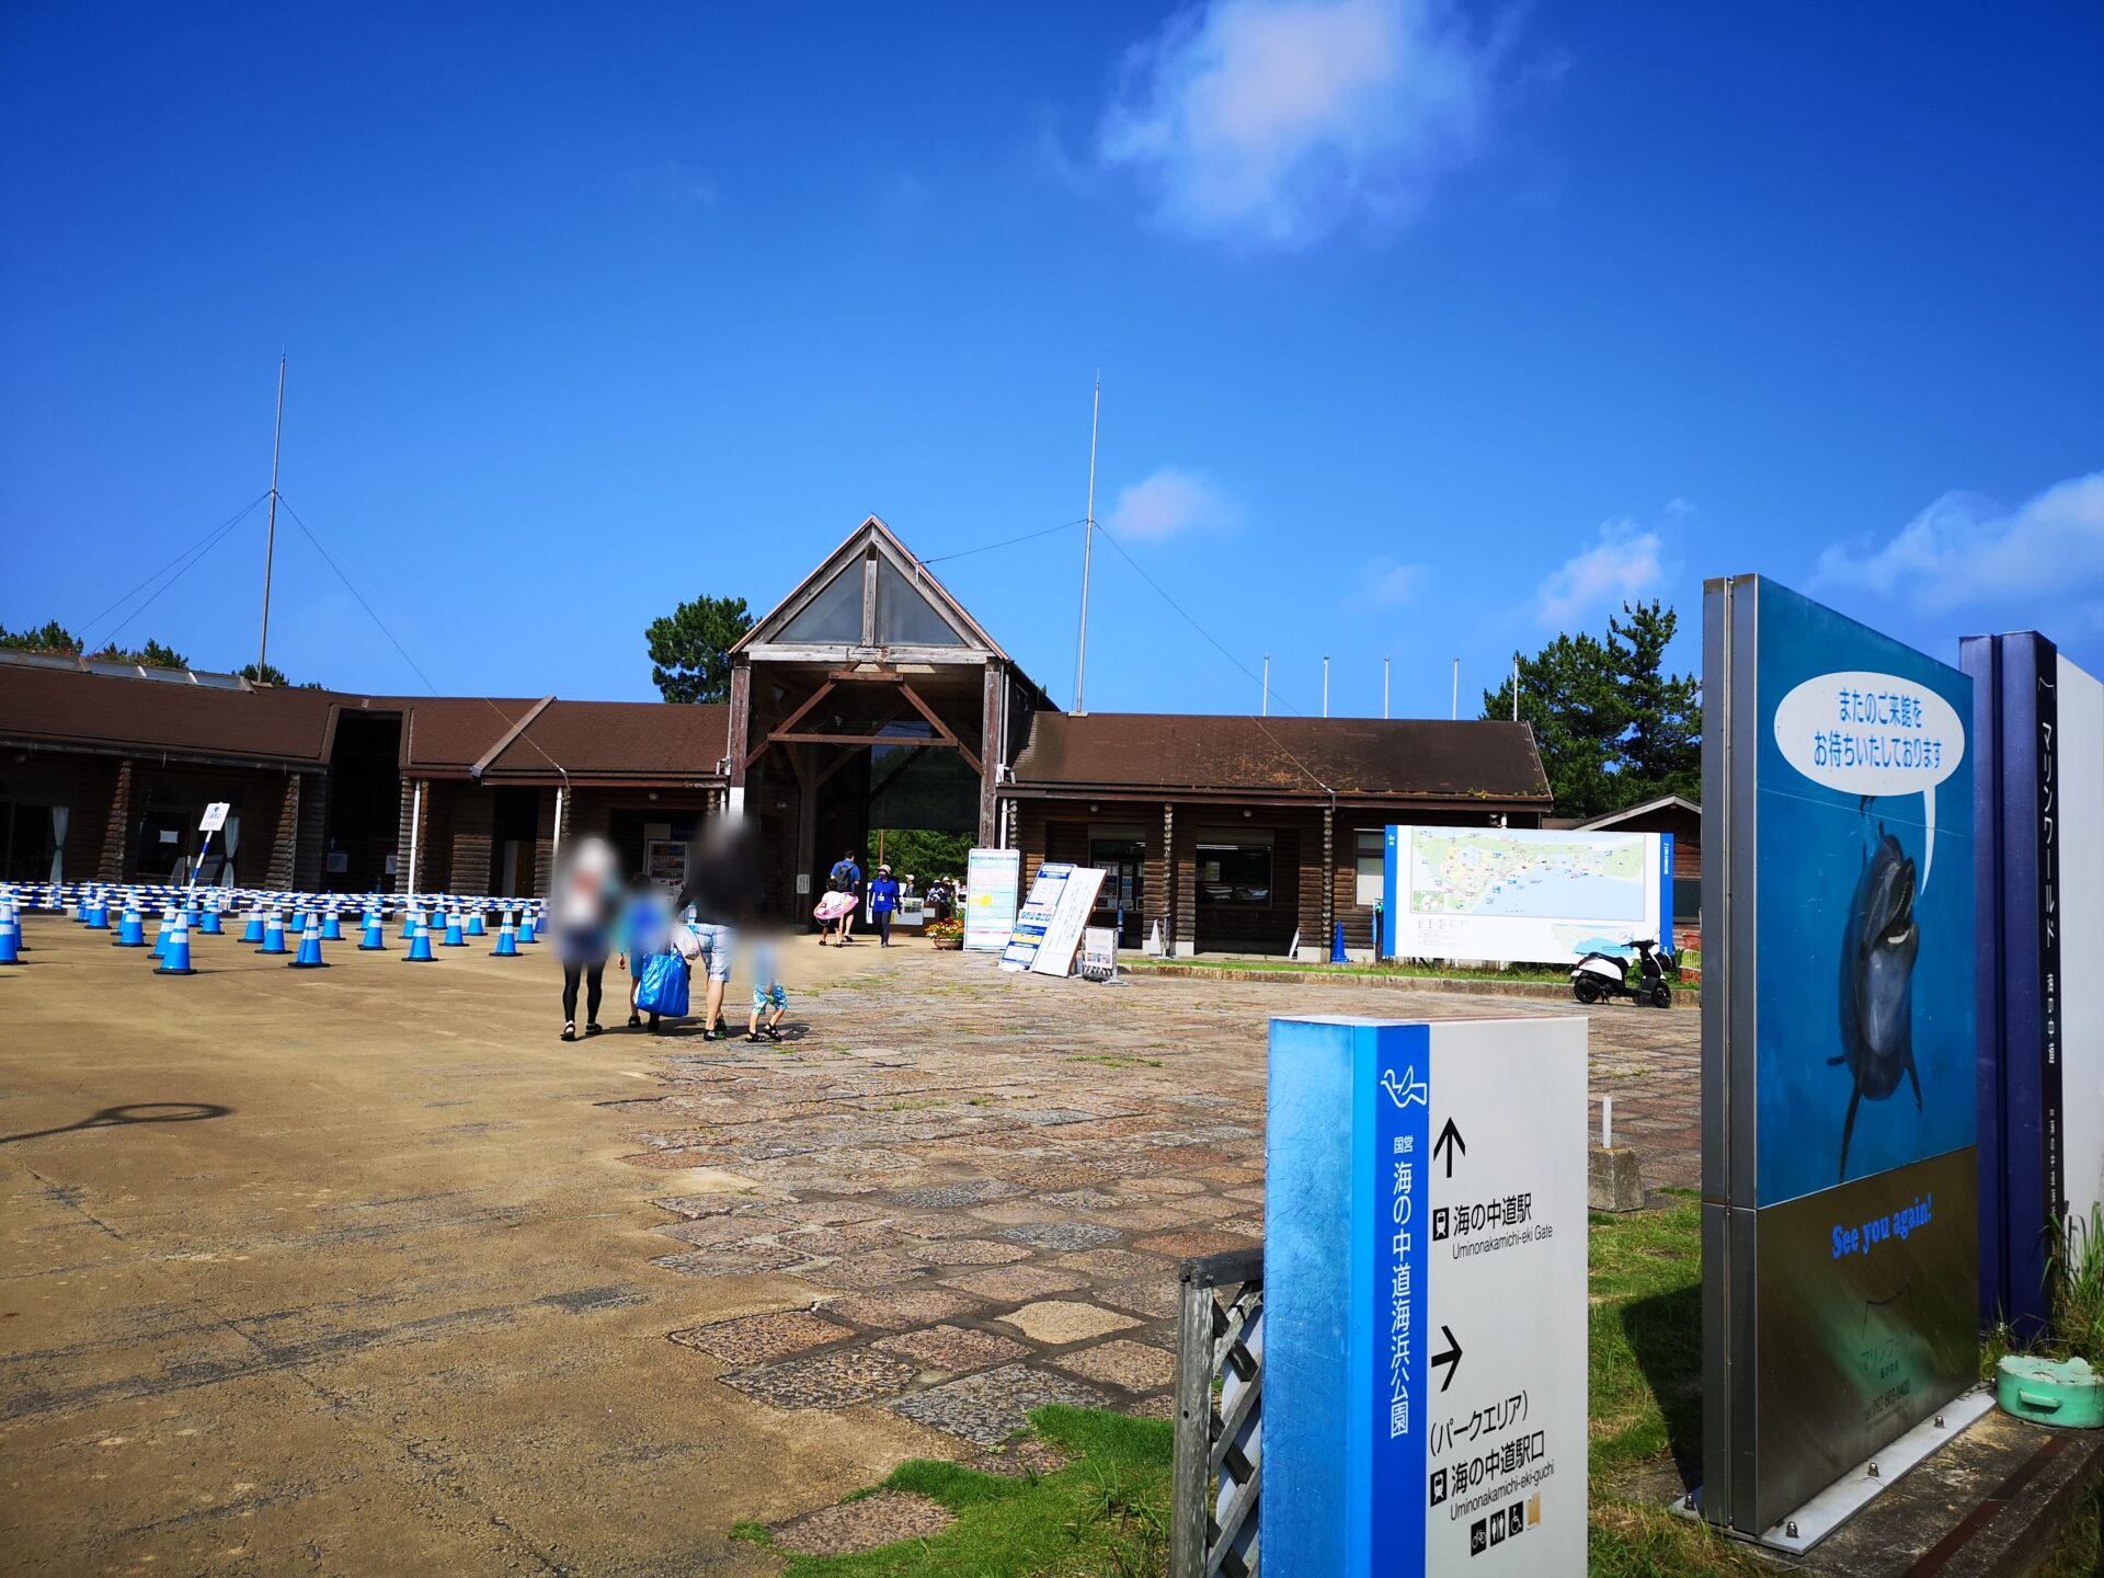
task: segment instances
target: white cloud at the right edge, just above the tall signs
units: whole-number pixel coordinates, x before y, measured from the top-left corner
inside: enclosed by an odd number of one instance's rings
[[[2003,600],[2049,600],[2054,608],[2079,602],[2104,591],[2104,471],[2056,482],[2018,509],[1946,492],[1883,545],[1858,537],[1828,547],[1812,585],[1902,595],[1921,612]]]

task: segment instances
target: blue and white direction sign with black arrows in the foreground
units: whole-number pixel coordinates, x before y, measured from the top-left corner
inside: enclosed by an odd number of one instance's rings
[[[1586,1570],[1586,1023],[1271,1020],[1265,1570]]]

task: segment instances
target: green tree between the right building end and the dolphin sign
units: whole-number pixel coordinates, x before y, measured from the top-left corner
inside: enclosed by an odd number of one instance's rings
[[[1519,717],[1534,726],[1559,816],[1601,816],[1658,795],[1702,795],[1702,684],[1664,671],[1677,616],[1624,604],[1599,635],[1557,635],[1519,659]],[[1483,692],[1513,715],[1513,682]]]

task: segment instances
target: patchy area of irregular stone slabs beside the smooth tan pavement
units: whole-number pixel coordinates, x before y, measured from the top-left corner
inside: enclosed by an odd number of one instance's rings
[[[1351,985],[999,974],[924,949],[797,993],[783,1046],[659,1037],[629,1164],[705,1170],[659,1197],[654,1265],[781,1273],[808,1304],[671,1334],[783,1410],[873,1403],[995,1448],[1048,1401],[1170,1412],[1176,1262],[1262,1239],[1273,1014],[1534,1016],[1576,1004]],[[1694,1012],[1603,1008],[1650,1187],[1698,1180]]]

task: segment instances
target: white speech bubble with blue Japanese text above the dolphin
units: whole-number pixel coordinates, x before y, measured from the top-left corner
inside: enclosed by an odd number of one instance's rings
[[[1776,707],[1776,749],[1812,783],[1845,795],[1919,793],[1927,890],[1936,865],[1936,785],[1965,760],[1957,707],[1898,673],[1822,673]]]

